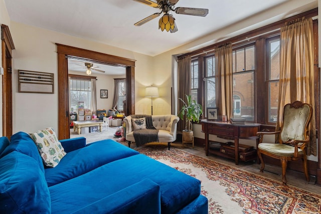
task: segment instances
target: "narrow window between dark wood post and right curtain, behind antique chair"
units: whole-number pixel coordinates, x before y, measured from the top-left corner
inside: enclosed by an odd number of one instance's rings
[[[276,122],[280,74],[280,37],[266,40],[267,49],[267,92],[268,122]]]

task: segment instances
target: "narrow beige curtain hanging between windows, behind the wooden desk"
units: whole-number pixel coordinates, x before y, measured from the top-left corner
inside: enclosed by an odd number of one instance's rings
[[[228,43],[215,48],[216,106],[218,115],[226,115],[227,121],[233,113],[233,79],[232,79],[232,44]]]

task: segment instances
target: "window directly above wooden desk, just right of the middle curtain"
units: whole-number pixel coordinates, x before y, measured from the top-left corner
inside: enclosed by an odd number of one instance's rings
[[[254,121],[255,46],[235,48],[232,62],[233,117]]]

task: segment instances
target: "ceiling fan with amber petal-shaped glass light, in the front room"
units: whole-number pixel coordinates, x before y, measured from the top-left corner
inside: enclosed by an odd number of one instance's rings
[[[157,3],[151,0],[133,0],[133,1],[142,3],[149,7],[158,8],[162,10],[161,13],[155,13],[150,15],[149,17],[146,17],[145,19],[140,20],[139,22],[135,23],[134,26],[141,26],[146,22],[149,22],[150,20],[155,19],[156,17],[164,13],[164,16],[161,19],[159,19],[158,29],[161,29],[162,31],[166,30],[167,32],[170,31],[171,33],[177,32],[178,28],[176,26],[173,15],[169,14],[170,11],[174,11],[177,14],[185,14],[185,15],[200,16],[200,17],[206,17],[206,15],[208,15],[209,13],[208,9],[202,9],[202,8],[182,8],[182,7],[175,8],[175,5],[179,2],[179,0],[156,0]]]

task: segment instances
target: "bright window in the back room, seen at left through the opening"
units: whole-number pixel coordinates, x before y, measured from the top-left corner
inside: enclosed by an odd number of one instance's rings
[[[78,102],[84,102],[84,108],[90,109],[91,80],[70,78],[70,108],[78,109]]]

